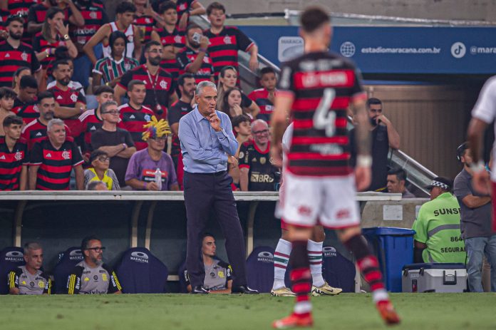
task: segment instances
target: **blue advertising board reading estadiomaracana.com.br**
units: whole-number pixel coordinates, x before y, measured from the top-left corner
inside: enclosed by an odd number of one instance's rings
[[[296,26],[239,26],[279,66],[302,51]],[[331,50],[363,73],[496,73],[496,28],[335,27]]]

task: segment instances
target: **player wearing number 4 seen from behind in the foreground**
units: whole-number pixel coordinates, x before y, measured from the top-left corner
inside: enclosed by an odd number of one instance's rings
[[[337,229],[339,239],[357,259],[358,268],[371,284],[373,301],[387,324],[400,321],[389,301],[376,257],[361,236],[360,213],[355,201],[358,190],[371,180],[369,124],[366,93],[356,68],[345,58],[329,53],[331,22],[319,7],[301,14],[304,55],[285,63],[272,115],[272,158],[281,164],[281,138],[291,112],[294,133],[284,172],[281,212],[288,225],[291,250],[291,282],[296,294],[293,313],[273,326],[285,329],[311,326],[311,272],[307,244],[317,220]],[[348,165],[346,108],[356,111],[359,158],[355,177]],[[326,197],[324,200],[324,196]]]

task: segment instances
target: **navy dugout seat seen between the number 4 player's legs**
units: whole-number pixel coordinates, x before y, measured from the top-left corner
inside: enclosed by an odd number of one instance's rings
[[[324,247],[322,275],[331,287],[343,292],[355,292],[355,264],[343,257],[334,247]]]

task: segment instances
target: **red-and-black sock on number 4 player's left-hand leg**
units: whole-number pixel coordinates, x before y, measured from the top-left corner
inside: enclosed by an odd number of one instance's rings
[[[296,294],[294,316],[308,317],[311,314],[309,292],[311,289],[311,274],[309,257],[306,254],[306,241],[294,241],[291,250],[291,284]]]

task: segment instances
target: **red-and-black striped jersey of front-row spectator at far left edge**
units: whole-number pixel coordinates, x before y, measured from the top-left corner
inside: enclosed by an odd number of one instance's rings
[[[19,190],[22,167],[28,164],[26,140],[19,138],[11,151],[5,137],[0,136],[0,191]]]

